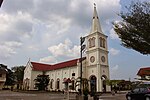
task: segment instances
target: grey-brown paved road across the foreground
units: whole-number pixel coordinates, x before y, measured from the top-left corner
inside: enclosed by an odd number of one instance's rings
[[[69,100],[76,100],[76,94],[70,94]],[[12,91],[0,91],[0,100],[64,100],[64,94],[53,92],[12,92]],[[93,98],[89,97],[89,100]],[[102,94],[99,100],[126,100],[125,93],[120,94]]]

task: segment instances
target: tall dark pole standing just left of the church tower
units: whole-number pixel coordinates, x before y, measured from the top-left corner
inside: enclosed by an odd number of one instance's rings
[[[80,37],[80,95],[82,95],[82,51],[85,49],[84,41],[85,37]]]

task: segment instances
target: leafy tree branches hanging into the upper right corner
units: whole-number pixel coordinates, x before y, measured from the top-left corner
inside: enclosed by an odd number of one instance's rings
[[[114,22],[114,30],[126,48],[141,54],[150,54],[150,2],[132,2],[119,16],[120,22]]]

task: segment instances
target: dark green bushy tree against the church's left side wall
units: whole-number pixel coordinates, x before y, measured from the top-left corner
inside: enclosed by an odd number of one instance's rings
[[[38,88],[38,90],[46,90],[49,80],[49,75],[38,75],[34,80],[35,87]]]

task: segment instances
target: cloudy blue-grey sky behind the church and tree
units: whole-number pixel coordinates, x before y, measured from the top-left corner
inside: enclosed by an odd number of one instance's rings
[[[143,0],[142,0],[143,1]],[[134,80],[150,57],[121,46],[112,22],[131,0],[4,0],[0,8],[0,63],[8,68],[78,58],[79,39],[89,34],[96,3],[108,36],[110,79]]]

